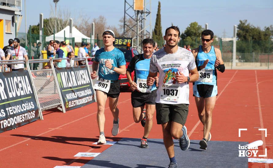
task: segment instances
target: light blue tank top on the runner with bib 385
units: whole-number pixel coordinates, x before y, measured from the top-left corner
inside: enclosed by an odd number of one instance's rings
[[[217,85],[217,74],[216,74],[216,68],[214,67],[215,61],[216,61],[216,54],[214,47],[211,46],[210,52],[209,53],[204,53],[202,50],[202,46],[199,46],[199,51],[196,57],[197,65],[196,66],[201,66],[203,65],[205,60],[209,60],[208,64],[206,65],[205,69],[213,69],[213,77],[212,77],[212,82],[194,82],[195,85],[198,84],[207,84],[207,85]]]

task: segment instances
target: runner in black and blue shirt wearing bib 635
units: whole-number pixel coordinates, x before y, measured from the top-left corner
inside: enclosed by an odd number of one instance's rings
[[[143,54],[133,57],[126,71],[130,87],[133,90],[131,94],[133,118],[136,123],[141,121],[141,125],[144,127],[140,148],[148,148],[147,138],[152,129],[152,119],[156,110],[156,84],[154,83],[152,86],[146,84],[154,47],[155,41],[153,39],[144,39],[142,41]],[[133,71],[135,71],[134,79],[131,77]],[[146,106],[146,112],[141,113],[141,111],[145,111],[144,106]]]

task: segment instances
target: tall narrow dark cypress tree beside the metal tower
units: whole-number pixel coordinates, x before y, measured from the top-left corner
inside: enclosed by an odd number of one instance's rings
[[[155,29],[152,32],[152,37],[157,42],[158,46],[162,46],[164,43],[163,35],[162,35],[162,27],[161,27],[161,14],[160,14],[161,4],[158,1],[157,14],[156,14],[156,24]]]

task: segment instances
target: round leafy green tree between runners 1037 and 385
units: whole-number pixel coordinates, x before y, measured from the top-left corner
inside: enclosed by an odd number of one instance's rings
[[[190,45],[192,48],[196,48],[199,44],[201,44],[201,33],[204,30],[202,26],[198,25],[197,22],[192,22],[186,28],[184,33],[181,34],[180,38],[182,39],[183,45]]]

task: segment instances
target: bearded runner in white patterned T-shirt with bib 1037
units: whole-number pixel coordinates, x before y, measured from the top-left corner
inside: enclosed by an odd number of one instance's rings
[[[147,79],[147,84],[151,86],[159,72],[156,120],[157,124],[162,125],[163,141],[170,159],[169,168],[177,167],[172,138],[179,139],[182,150],[188,149],[190,145],[184,126],[189,105],[188,82],[195,82],[199,76],[193,54],[177,45],[179,36],[178,27],[171,26],[166,29],[166,47],[152,55]]]

